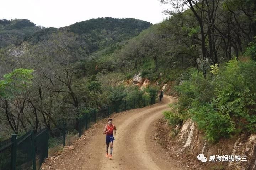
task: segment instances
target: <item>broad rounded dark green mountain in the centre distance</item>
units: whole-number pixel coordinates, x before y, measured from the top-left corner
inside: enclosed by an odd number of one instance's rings
[[[91,53],[132,38],[150,26],[149,22],[133,18],[105,17],[78,22],[67,29],[78,34],[78,41],[81,44],[86,44],[87,50]],[[112,53],[118,48],[118,46],[112,46],[108,53]]]

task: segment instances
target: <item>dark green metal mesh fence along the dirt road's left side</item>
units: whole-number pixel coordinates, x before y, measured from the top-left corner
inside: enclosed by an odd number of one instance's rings
[[[17,134],[13,134],[11,138],[1,141],[0,168],[3,170],[39,170],[44,159],[48,158],[48,148],[56,145],[65,146],[68,134],[77,134],[80,137],[97,120],[108,118],[114,112],[155,104],[155,100],[154,97],[141,97],[117,101],[99,109],[86,111],[81,117],[60,123],[50,131],[49,128],[44,128],[36,134],[30,131],[19,138]]]

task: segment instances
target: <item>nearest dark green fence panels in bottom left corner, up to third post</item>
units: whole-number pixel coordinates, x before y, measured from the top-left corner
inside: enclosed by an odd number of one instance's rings
[[[34,134],[27,132],[17,138],[17,134],[1,142],[1,169],[39,170],[45,158],[48,158],[49,130],[44,128]]]

